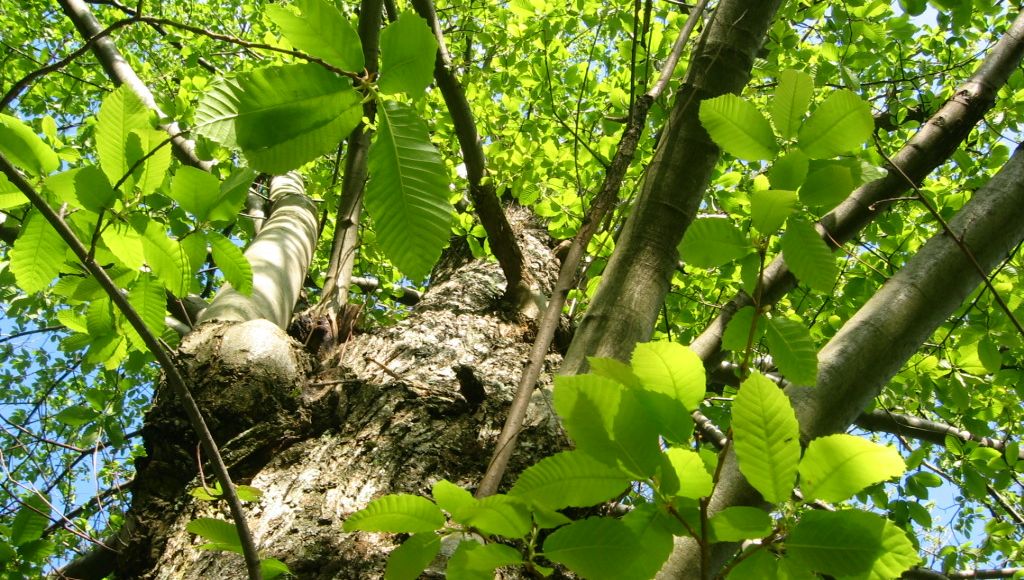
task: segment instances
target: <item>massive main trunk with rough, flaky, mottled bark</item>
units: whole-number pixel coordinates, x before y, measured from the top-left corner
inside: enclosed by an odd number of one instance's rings
[[[558,262],[544,230],[516,229],[532,272],[550,287]],[[179,349],[232,477],[263,491],[249,506],[261,556],[282,560],[300,578],[381,576],[395,538],[342,533],[344,519],[387,493],[429,494],[441,478],[471,487],[486,467],[532,323],[502,312],[497,263],[450,249],[432,279],[409,318],[357,334],[323,360],[310,361],[266,321],[207,324]],[[240,336],[271,346],[239,349]],[[559,362],[550,356],[544,384]],[[242,578],[240,556],[199,550],[202,542],[184,529],[196,517],[227,517],[221,506],[185,495],[199,482],[182,421],[177,404],[160,393],[146,420],[133,539],[118,573]],[[512,468],[563,441],[539,389]]]

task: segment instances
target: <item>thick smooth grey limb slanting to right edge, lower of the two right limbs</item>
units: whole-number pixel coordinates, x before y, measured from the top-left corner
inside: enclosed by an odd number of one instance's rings
[[[846,430],[900,367],[982,282],[954,241],[961,240],[987,273],[1024,240],[1024,150],[974,195],[949,222],[952,236],[933,237],[818,354],[816,387],[785,389],[797,411],[801,440]],[[729,452],[709,511],[763,505]],[[734,546],[716,544],[716,567]],[[700,553],[685,539],[663,569],[666,578],[699,578]]]

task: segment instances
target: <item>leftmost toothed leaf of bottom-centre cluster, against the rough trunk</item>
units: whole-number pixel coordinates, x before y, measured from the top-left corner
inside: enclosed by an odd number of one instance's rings
[[[392,494],[375,499],[349,515],[342,529],[419,534],[439,530],[443,525],[444,514],[432,501],[410,494]]]

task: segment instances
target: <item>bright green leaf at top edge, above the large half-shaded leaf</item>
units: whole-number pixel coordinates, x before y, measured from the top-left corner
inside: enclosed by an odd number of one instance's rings
[[[292,46],[342,71],[361,72],[362,43],[348,19],[325,0],[295,0],[289,7],[267,6],[267,16]]]

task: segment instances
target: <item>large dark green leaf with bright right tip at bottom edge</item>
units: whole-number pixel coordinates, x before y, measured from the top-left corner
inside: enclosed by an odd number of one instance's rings
[[[786,557],[842,578],[899,578],[921,558],[906,533],[874,513],[804,513],[785,541]]]

